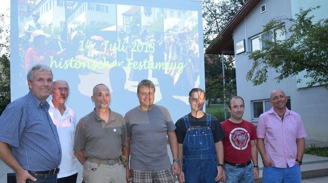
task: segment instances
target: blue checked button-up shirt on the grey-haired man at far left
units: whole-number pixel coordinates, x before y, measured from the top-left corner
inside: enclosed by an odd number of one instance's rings
[[[56,126],[43,104],[31,92],[8,104],[0,116],[0,141],[10,145],[23,169],[58,168],[62,152]]]

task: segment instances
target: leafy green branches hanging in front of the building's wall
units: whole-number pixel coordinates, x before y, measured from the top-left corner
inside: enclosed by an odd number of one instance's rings
[[[272,19],[264,25],[266,36],[277,36],[277,28],[284,34],[291,33],[291,36],[274,42],[261,39],[265,47],[249,56],[254,62],[246,76],[248,81],[254,85],[266,82],[271,68],[278,73],[274,78],[278,82],[305,70],[305,77],[311,78],[308,87],[319,84],[328,89],[328,19],[313,22],[314,16],[308,16],[318,8],[301,9],[295,18]],[[284,26],[287,23],[290,23],[288,29]]]

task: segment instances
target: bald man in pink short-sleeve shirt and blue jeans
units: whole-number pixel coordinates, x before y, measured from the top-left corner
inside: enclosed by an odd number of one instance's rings
[[[286,108],[281,90],[270,94],[272,108],[258,117],[258,151],[263,161],[263,183],[301,183],[306,137],[301,116]],[[264,142],[265,139],[265,142]]]

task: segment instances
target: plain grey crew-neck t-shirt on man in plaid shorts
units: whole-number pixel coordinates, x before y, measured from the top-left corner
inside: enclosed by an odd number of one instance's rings
[[[166,134],[175,130],[171,116],[163,106],[148,111],[133,108],[124,116],[127,136],[131,137],[130,168],[166,170],[171,167],[167,155]]]

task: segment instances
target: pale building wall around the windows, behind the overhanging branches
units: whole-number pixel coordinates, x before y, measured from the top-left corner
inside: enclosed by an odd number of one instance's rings
[[[257,121],[253,118],[252,101],[270,98],[270,92],[281,89],[290,97],[291,110],[299,113],[304,121],[307,139],[328,142],[328,90],[323,87],[312,87],[307,90],[297,87],[297,76],[282,80],[277,83],[273,78],[277,76],[274,69],[268,70],[267,82],[260,86],[253,86],[246,80],[246,74],[252,67],[252,60],[248,59],[247,52],[251,52],[250,38],[258,35],[263,30],[263,25],[272,18],[281,16],[291,17],[299,8],[292,7],[302,4],[305,0],[261,0],[258,5],[234,29],[234,44],[245,39],[246,52],[235,54],[237,94],[245,100],[244,119]],[[296,3],[298,2],[298,3]],[[308,1],[308,3],[314,1]],[[315,5],[325,5],[325,0],[315,0]],[[307,4],[308,4],[307,3]],[[319,3],[319,4],[318,4]],[[266,4],[266,12],[260,13],[260,6]],[[322,7],[328,9],[328,6]],[[307,8],[304,8],[307,9]],[[298,11],[297,11],[298,12]],[[327,11],[322,12],[327,16]],[[289,24],[286,23],[288,28]],[[290,34],[286,35],[288,38]]]

